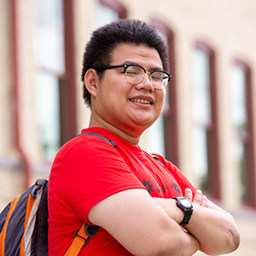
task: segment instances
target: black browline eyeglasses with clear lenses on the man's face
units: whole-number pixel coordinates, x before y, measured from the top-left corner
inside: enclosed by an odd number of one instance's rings
[[[124,65],[110,65],[97,67],[96,70],[107,70],[112,68],[124,67],[125,79],[131,84],[139,84],[143,81],[145,73],[148,73],[150,77],[151,85],[155,89],[164,89],[170,82],[172,75],[161,70],[154,70],[148,72],[145,68],[135,64],[124,64]]]

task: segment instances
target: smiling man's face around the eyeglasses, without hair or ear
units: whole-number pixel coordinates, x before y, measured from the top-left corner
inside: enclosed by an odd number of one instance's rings
[[[160,55],[147,46],[119,44],[110,65],[137,64],[146,71],[162,70]],[[124,67],[104,71],[92,96],[92,116],[134,137],[139,137],[160,116],[166,90],[154,89],[148,73],[139,84],[125,79]],[[144,100],[142,102],[141,100]],[[104,126],[104,125],[103,125]]]

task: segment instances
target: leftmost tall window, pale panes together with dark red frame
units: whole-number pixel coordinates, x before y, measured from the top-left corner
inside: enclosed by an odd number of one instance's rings
[[[78,132],[73,1],[37,0],[36,7],[38,131],[44,158],[52,160]]]

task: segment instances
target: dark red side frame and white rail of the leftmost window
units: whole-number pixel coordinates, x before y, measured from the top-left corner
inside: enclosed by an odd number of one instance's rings
[[[77,135],[76,79],[74,70],[73,2],[61,0],[63,19],[63,70],[38,65],[38,72],[54,76],[58,81],[59,147]],[[43,154],[44,162],[51,162]]]

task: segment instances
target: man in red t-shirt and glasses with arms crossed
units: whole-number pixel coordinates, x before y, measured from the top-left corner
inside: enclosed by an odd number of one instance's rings
[[[217,255],[238,247],[230,214],[171,162],[138,146],[163,109],[167,72],[166,45],[153,27],[119,20],[93,33],[82,70],[91,108],[84,131],[114,147],[84,134],[56,155],[49,177],[49,256],[67,252],[84,220],[100,228],[79,255]]]

